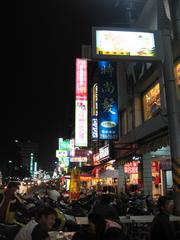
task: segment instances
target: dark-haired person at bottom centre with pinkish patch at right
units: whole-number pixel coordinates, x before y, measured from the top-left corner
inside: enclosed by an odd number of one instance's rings
[[[102,240],[106,231],[111,228],[116,228],[120,231],[123,231],[121,224],[117,220],[104,219],[102,215],[97,213],[90,213],[88,220],[90,229],[92,232],[95,232],[98,240]]]

